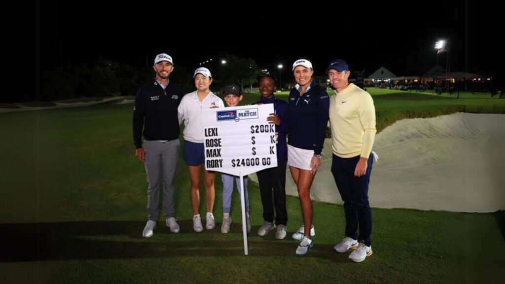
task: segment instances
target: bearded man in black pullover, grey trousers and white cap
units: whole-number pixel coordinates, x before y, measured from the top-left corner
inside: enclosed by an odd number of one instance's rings
[[[162,183],[166,225],[174,233],[180,229],[175,219],[174,179],[179,161],[177,108],[182,99],[182,89],[169,79],[174,62],[168,54],[156,56],[153,70],[155,78],[138,89],[133,107],[135,156],[144,163],[148,182],[147,224],[142,231],[144,238],[153,235],[156,228]]]

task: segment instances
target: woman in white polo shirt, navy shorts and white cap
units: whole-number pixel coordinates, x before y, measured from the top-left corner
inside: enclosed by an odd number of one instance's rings
[[[193,208],[193,229],[196,232],[204,230],[198,212],[200,205],[200,169],[205,162],[204,153],[204,127],[201,124],[201,110],[210,108],[223,108],[224,103],[210,90],[212,84],[211,71],[200,67],[194,71],[194,85],[196,90],[187,93],[182,98],[178,108],[179,124],[184,121],[184,153],[182,159],[188,165],[191,179],[190,197]],[[207,201],[206,228],[215,226],[214,215],[214,177],[213,171],[204,171],[204,186]]]

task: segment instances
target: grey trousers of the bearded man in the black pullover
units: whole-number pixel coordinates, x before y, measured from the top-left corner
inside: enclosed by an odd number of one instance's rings
[[[175,217],[175,171],[179,161],[179,139],[166,142],[144,140],[147,175],[147,220],[158,220],[160,186],[163,183],[163,212]]]

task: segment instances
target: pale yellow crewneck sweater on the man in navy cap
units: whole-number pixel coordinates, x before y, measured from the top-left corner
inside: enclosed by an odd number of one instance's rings
[[[375,107],[372,96],[355,84],[330,98],[332,150],[341,158],[368,158],[375,139]]]

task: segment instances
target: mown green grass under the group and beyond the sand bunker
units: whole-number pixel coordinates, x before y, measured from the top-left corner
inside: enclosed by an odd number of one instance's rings
[[[435,113],[462,106],[460,100],[413,97],[402,107],[406,97],[398,96],[374,97],[378,112]],[[247,98],[253,99],[257,96]],[[503,110],[501,100],[474,100],[463,106],[494,109],[496,102]],[[342,207],[315,203],[315,247],[306,257],[295,257],[297,242],[289,236],[302,222],[297,198],[287,200],[288,237],[278,241],[273,232],[260,237],[262,206],[254,182],[249,182],[253,228],[244,256],[236,193],[232,230],[219,231],[219,174],[217,226],[193,232],[182,160],[176,181],[181,233],[171,234],[160,218],[155,235],[142,239],[146,180],[134,157],[131,109],[106,104],[0,114],[3,283],[498,283],[503,278],[502,212],[374,208],[374,254],[356,264],[332,250],[343,236]],[[371,182],[373,190],[373,175]],[[203,199],[202,214],[204,204]]]

